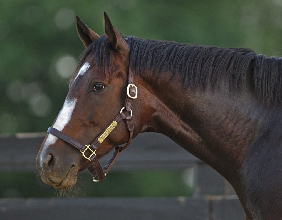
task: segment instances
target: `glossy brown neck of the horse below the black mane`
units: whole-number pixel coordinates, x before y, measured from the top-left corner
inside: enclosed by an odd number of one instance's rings
[[[171,83],[165,77],[149,84],[153,85],[155,112],[147,126],[214,167],[229,182],[231,177],[238,178],[234,174],[243,169],[266,114],[252,89],[230,93],[222,84],[214,91],[183,91],[177,80]]]

